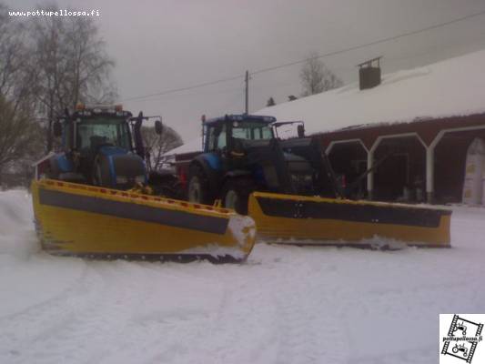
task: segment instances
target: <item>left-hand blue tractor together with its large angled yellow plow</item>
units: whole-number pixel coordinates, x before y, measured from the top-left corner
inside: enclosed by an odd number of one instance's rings
[[[158,186],[150,186],[140,135],[144,118],[83,107],[55,124],[63,150],[35,164],[32,182],[42,248],[90,258],[244,261],[256,238],[250,217],[153,194]]]

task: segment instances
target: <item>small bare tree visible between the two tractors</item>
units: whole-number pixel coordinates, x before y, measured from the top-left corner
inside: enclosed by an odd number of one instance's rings
[[[154,170],[162,167],[163,155],[169,150],[179,147],[183,144],[182,138],[170,126],[163,127],[163,133],[157,135],[154,127],[142,127],[143,143],[150,153],[151,167]]]

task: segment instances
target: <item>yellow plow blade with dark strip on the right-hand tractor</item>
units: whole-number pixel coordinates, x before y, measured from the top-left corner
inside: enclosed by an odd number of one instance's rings
[[[255,192],[248,215],[258,238],[268,241],[359,245],[359,240],[382,237],[450,247],[451,210],[442,207]]]

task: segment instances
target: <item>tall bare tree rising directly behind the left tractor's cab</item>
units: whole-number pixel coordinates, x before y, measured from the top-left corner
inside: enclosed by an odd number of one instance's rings
[[[48,5],[56,10],[57,5]],[[46,148],[53,147],[52,125],[64,109],[84,103],[111,103],[116,89],[110,80],[114,61],[92,18],[50,16],[37,18],[34,41],[38,109],[46,119]]]

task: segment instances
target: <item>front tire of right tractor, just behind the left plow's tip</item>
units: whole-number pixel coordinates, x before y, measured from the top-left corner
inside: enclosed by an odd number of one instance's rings
[[[222,206],[234,209],[237,214],[248,215],[248,199],[255,185],[250,178],[229,178],[222,187]]]

